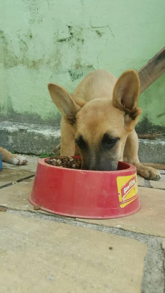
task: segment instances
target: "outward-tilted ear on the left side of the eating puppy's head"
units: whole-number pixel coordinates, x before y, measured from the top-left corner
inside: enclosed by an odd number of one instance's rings
[[[68,91],[58,84],[48,84],[48,90],[53,102],[64,115],[67,122],[74,125],[76,123],[76,114],[81,109],[81,106],[77,105]]]

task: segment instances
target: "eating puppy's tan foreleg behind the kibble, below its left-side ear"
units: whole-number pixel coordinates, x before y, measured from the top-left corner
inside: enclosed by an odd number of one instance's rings
[[[74,134],[69,124],[62,117],[61,120],[61,156],[74,156],[75,140]]]

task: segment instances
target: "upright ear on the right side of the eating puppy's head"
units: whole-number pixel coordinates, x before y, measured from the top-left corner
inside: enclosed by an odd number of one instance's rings
[[[135,70],[127,70],[119,77],[113,90],[113,105],[135,120],[142,110],[137,107],[140,80]]]

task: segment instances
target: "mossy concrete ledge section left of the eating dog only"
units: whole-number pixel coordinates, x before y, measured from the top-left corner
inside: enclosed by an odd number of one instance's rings
[[[0,145],[23,154],[50,154],[60,142],[59,127],[0,122]]]

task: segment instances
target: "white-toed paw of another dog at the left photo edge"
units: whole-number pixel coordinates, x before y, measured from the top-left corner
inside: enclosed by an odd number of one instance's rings
[[[11,154],[7,149],[3,149],[2,147],[0,147],[0,153],[2,161],[6,163],[13,165],[25,165],[27,163],[27,159],[24,156]]]

